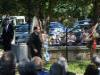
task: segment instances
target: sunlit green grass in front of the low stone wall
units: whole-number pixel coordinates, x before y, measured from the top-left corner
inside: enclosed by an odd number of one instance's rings
[[[78,75],[83,75],[85,72],[85,69],[87,67],[87,65],[90,63],[90,61],[72,61],[72,62],[68,62],[68,71],[70,72],[74,72]],[[51,64],[46,64],[44,65],[44,67],[49,70],[50,69]]]

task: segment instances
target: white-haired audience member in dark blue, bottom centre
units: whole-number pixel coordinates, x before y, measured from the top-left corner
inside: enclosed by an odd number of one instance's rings
[[[63,56],[60,56],[58,60],[50,67],[50,75],[66,75],[68,68],[67,62]]]

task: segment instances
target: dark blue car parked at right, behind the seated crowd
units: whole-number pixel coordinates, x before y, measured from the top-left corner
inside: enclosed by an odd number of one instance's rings
[[[86,19],[86,20],[79,20],[76,21],[74,23],[74,26],[72,28],[70,28],[67,32],[73,32],[76,36],[76,44],[80,43],[81,41],[81,34],[82,34],[82,30],[88,30],[92,25],[92,22],[90,19]]]

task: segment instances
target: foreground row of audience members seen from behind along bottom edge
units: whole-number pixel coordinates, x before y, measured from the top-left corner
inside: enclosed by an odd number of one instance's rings
[[[95,54],[91,59],[83,75],[100,74],[100,56]],[[61,55],[51,64],[50,69],[43,67],[43,61],[39,56],[34,56],[31,61],[22,60],[16,65],[12,51],[4,52],[0,58],[0,75],[76,75],[68,71],[67,60]]]

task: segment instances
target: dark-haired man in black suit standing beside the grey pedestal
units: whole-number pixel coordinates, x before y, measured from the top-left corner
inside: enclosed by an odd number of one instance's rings
[[[34,56],[39,56],[42,58],[42,37],[39,26],[34,27],[34,32],[30,34],[27,44],[29,48],[29,59]]]

